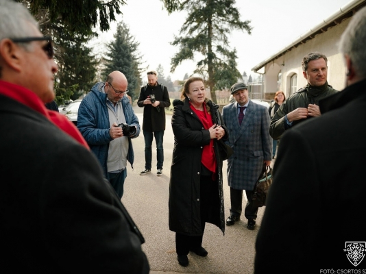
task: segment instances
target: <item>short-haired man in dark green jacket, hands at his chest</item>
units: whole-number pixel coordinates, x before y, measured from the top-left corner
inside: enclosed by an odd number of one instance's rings
[[[291,95],[271,120],[269,134],[275,140],[304,119],[320,116],[319,100],[338,92],[327,82],[327,58],[319,52],[310,52],[302,59],[302,73],[308,84]]]

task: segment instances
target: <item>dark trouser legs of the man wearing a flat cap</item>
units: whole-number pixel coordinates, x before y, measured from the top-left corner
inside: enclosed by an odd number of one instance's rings
[[[245,190],[247,195],[247,205],[245,206],[244,215],[247,219],[256,219],[258,213],[258,206],[254,206],[252,199],[253,190]],[[243,190],[230,188],[230,214],[234,216],[241,216],[243,203]]]

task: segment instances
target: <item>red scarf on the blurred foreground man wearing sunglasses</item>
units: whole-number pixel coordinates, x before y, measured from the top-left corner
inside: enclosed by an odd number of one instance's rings
[[[32,110],[39,112],[49,121],[57,125],[63,132],[66,132],[66,134],[69,134],[69,136],[73,137],[77,142],[80,142],[80,144],[89,149],[86,140],[83,138],[77,127],[75,127],[75,125],[69,121],[66,116],[56,111],[48,110],[45,107],[45,104],[34,92],[24,88],[23,86],[18,86],[2,80],[0,80],[0,87],[0,95],[10,97],[19,103],[23,103],[23,105],[27,105],[27,107],[32,108]]]

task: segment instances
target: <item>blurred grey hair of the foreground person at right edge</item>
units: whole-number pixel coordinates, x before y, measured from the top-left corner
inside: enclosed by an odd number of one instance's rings
[[[366,7],[358,10],[341,36],[339,51],[352,60],[357,75],[366,78]]]

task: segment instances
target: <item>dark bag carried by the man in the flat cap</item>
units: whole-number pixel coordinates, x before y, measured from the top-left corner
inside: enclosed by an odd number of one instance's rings
[[[255,206],[261,207],[266,205],[269,186],[272,184],[272,168],[271,166],[263,165],[262,173],[256,182],[254,187],[254,194],[252,195],[252,201]]]

